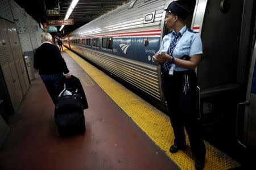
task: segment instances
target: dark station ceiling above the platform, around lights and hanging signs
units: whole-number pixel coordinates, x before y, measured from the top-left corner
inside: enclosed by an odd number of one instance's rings
[[[19,6],[31,15],[39,23],[47,20],[64,19],[72,0],[14,0]],[[79,0],[69,19],[73,19],[74,25],[65,25],[64,32],[69,33],[76,28],[98,18],[107,12],[114,10],[118,6],[124,5],[131,0]],[[45,9],[52,10],[60,6],[60,16],[47,16]],[[58,30],[60,26],[57,26]]]

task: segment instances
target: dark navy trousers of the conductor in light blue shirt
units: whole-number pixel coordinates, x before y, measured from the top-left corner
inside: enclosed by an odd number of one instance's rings
[[[205,145],[200,123],[197,120],[199,98],[195,71],[175,71],[174,75],[163,73],[162,90],[168,104],[168,114],[174,129],[175,144],[177,146],[185,145],[185,127],[193,156],[196,159],[204,160]]]

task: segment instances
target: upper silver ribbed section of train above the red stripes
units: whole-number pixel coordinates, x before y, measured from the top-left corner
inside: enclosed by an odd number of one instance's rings
[[[171,0],[134,0],[92,20],[75,31],[71,37],[95,36],[102,33],[118,33],[159,29],[164,24],[166,8]]]

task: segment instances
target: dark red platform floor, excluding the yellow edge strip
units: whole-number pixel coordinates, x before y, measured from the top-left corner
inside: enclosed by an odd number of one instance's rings
[[[0,148],[0,169],[179,169],[67,53],[84,86],[86,132],[59,137],[53,103],[40,77],[32,81]]]

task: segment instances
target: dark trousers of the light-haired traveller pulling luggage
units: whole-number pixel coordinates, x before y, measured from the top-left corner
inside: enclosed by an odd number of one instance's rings
[[[49,95],[54,104],[56,104],[57,96],[64,89],[63,74],[45,74],[40,75]]]

